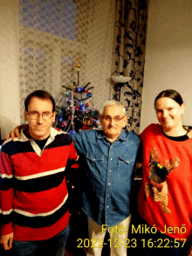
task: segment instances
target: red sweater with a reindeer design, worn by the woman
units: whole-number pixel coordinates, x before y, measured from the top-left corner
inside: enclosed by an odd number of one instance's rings
[[[143,180],[139,212],[149,225],[175,239],[192,233],[192,140],[175,142],[158,124],[142,133]],[[167,178],[165,178],[167,176]],[[186,232],[181,228],[184,226]]]

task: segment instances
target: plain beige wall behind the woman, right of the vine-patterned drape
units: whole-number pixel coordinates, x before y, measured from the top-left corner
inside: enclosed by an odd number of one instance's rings
[[[141,130],[157,123],[154,99],[165,89],[182,94],[183,124],[192,125],[192,2],[149,0]]]

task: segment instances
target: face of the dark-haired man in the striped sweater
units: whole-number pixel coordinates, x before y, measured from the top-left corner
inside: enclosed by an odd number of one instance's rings
[[[37,119],[31,119],[28,113],[38,113]],[[55,121],[55,113],[50,120],[45,121],[42,115],[52,114],[51,100],[41,100],[33,97],[28,105],[28,113],[24,110],[24,120],[29,122],[29,135],[35,140],[44,140],[51,133],[51,123]]]

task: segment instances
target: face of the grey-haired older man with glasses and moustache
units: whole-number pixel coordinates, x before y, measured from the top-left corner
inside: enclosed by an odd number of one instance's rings
[[[100,115],[100,123],[108,138],[116,139],[120,135],[122,128],[126,125],[126,121],[127,116],[123,115],[123,109],[117,106],[105,107],[103,114]]]

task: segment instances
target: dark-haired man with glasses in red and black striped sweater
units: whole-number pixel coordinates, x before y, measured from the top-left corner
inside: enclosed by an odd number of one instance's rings
[[[71,136],[51,128],[51,94],[35,91],[24,105],[28,129],[1,151],[1,244],[9,250],[13,243],[14,255],[61,256],[70,230],[65,165],[79,156]]]

